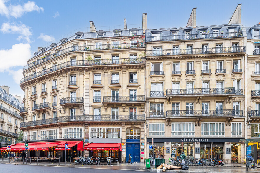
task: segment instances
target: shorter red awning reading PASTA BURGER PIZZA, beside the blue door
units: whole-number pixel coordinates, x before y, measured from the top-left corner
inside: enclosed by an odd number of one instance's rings
[[[88,149],[107,149],[107,150],[119,150],[122,151],[121,143],[87,143],[84,146],[85,150]]]

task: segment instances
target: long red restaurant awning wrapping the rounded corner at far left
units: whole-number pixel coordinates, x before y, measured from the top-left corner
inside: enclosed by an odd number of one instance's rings
[[[54,141],[54,142],[29,142],[28,150],[48,150],[50,147],[62,146],[63,144],[68,143],[69,147],[75,146],[78,144],[78,150],[83,150],[83,141]],[[11,145],[10,151],[21,151],[25,150],[25,143],[17,143]],[[72,145],[74,144],[74,145]],[[65,149],[65,145],[63,147]],[[9,151],[7,147],[0,148],[0,151]]]

